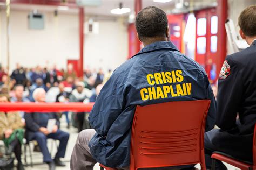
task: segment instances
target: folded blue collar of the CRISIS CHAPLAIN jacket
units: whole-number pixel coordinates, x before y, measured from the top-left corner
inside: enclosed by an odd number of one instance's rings
[[[179,51],[171,41],[158,41],[145,46],[138,52],[138,54],[150,52],[150,51],[156,51],[158,49],[163,49],[163,48],[170,48],[170,49],[173,49],[174,51]]]

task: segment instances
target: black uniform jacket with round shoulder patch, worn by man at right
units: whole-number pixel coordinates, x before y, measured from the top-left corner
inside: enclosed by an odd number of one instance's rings
[[[255,122],[256,40],[243,51],[226,57],[219,76],[216,124],[240,135],[252,134]]]

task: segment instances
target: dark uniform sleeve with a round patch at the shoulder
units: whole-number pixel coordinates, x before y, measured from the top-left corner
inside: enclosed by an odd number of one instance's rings
[[[242,97],[241,69],[232,56],[227,56],[219,75],[217,96],[217,126],[232,130],[237,126],[236,117]]]

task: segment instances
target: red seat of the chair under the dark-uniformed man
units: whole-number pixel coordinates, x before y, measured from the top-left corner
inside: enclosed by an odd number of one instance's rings
[[[213,152],[211,158],[218,159],[220,161],[224,161],[227,164],[231,164],[231,165],[233,165],[235,167],[238,167],[238,168],[241,168],[241,169],[243,169],[243,168],[250,168],[250,167],[253,166],[252,162],[239,160],[239,159],[234,158],[231,155],[226,154],[224,152],[217,152],[217,151]]]

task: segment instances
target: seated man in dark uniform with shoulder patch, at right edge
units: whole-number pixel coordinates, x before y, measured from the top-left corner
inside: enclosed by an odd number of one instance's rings
[[[256,121],[256,5],[242,11],[238,20],[240,35],[250,47],[228,55],[221,68],[216,120],[221,129],[214,129],[205,135],[207,168],[211,167],[213,151],[252,162]],[[217,167],[226,169],[220,161]]]

